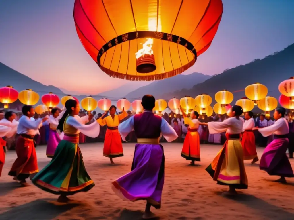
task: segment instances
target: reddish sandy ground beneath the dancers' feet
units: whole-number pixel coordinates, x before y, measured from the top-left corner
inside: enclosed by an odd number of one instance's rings
[[[166,171],[162,208],[152,209],[160,219],[294,219],[294,178],[288,185],[273,182],[259,170],[258,164],[245,161],[249,187],[236,198],[221,195],[227,188],[216,182],[205,171],[221,145],[201,145],[201,162],[189,166],[181,158],[180,143],[165,143]],[[124,157],[115,158],[110,165],[102,156],[103,143],[80,145],[84,163],[96,186],[86,193],[78,193],[70,204],[56,202],[57,196],[34,185],[20,188],[7,175],[16,153],[9,151],[0,179],[0,219],[141,219],[143,201],[126,202],[111,190],[111,181],[131,170],[134,144],[123,144]],[[36,148],[39,169],[50,159],[45,146]],[[263,148],[258,148],[260,157]],[[291,160],[294,167],[294,160]]]

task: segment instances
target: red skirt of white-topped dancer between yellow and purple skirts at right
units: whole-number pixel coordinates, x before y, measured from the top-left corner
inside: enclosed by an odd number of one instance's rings
[[[255,147],[255,135],[253,131],[244,131],[241,143],[243,147],[244,160],[252,160],[257,157]]]

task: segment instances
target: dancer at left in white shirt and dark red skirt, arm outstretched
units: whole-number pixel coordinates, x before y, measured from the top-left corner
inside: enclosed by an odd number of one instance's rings
[[[14,180],[20,181],[21,186],[29,186],[26,179],[31,174],[39,172],[34,136],[47,118],[32,121],[30,118],[35,115],[35,109],[30,105],[24,105],[21,111],[23,116],[19,119],[17,126],[17,134],[20,136],[17,138],[15,146],[17,158],[8,175],[13,176]]]

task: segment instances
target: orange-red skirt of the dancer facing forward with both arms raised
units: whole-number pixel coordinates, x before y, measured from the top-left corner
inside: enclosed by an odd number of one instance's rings
[[[107,129],[104,139],[103,156],[109,158],[123,157],[123,144],[118,130]]]

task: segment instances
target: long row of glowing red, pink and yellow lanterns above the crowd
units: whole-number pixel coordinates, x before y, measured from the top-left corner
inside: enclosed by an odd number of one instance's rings
[[[291,77],[280,83],[279,91],[281,95],[279,97],[279,103],[286,109],[294,109],[294,78]],[[255,105],[259,109],[265,111],[265,115],[269,116],[269,112],[274,110],[278,106],[278,100],[274,97],[267,96],[268,88],[260,83],[250,84],[245,88],[245,96],[236,101],[236,105],[243,108],[243,111],[251,111]],[[37,92],[31,89],[26,89],[21,92],[17,92],[12,86],[6,86],[0,88],[0,102],[4,104],[4,108],[9,108],[9,104],[19,99],[19,101],[26,105],[35,105],[38,103],[40,96]],[[35,111],[38,114],[42,114],[46,111],[50,111],[54,106],[57,106],[59,102],[64,106],[65,102],[69,99],[78,99],[74,96],[67,95],[59,99],[59,97],[49,92],[41,97],[43,104],[36,106]],[[208,94],[200,94],[194,98],[186,96],[179,99],[173,98],[168,102],[164,99],[157,99],[153,111],[156,114],[161,114],[167,107],[171,109],[175,114],[181,114],[179,110],[180,106],[184,110],[185,114],[189,114],[191,111],[197,111],[200,116],[211,116],[213,112],[216,114],[225,114],[230,108],[230,104],[233,101],[234,96],[232,92],[227,90],[221,90],[216,92],[215,100],[216,104],[211,107],[212,97]],[[81,100],[81,106],[83,109],[90,113],[97,107],[103,111],[108,111],[111,106],[110,99],[96,100],[92,96],[86,97]],[[126,98],[119,99],[117,101],[117,108],[119,111],[123,109],[125,111],[132,108],[136,113],[143,111],[141,100],[136,99],[130,102]]]

